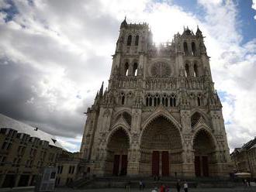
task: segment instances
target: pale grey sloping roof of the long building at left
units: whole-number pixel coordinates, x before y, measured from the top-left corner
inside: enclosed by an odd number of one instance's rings
[[[19,133],[25,133],[30,137],[36,137],[38,139],[49,142],[50,146],[56,146],[63,149],[61,143],[57,142],[54,135],[50,135],[47,132],[43,132],[40,129],[34,128],[23,122],[19,122],[13,118],[9,118],[5,115],[0,114],[0,129],[14,129]]]

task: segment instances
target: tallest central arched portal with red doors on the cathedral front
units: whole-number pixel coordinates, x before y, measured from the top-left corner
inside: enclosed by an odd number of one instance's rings
[[[141,143],[140,173],[150,176],[168,177],[173,175],[172,154],[182,150],[182,140],[175,125],[164,116],[154,118],[144,129]]]

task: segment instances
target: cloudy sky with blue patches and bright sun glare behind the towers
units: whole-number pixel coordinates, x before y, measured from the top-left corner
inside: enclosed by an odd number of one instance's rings
[[[199,25],[230,149],[254,138],[256,0],[0,0],[0,113],[79,150],[125,15],[149,22],[156,42]]]

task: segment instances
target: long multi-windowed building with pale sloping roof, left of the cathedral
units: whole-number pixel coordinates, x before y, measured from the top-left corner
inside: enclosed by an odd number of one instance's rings
[[[62,150],[54,135],[0,114],[0,187],[33,186]]]

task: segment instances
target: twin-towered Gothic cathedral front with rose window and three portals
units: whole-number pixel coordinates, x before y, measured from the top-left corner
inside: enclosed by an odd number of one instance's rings
[[[81,156],[99,176],[223,177],[230,153],[202,32],[156,45],[147,23],[122,22],[103,84],[87,110]]]

